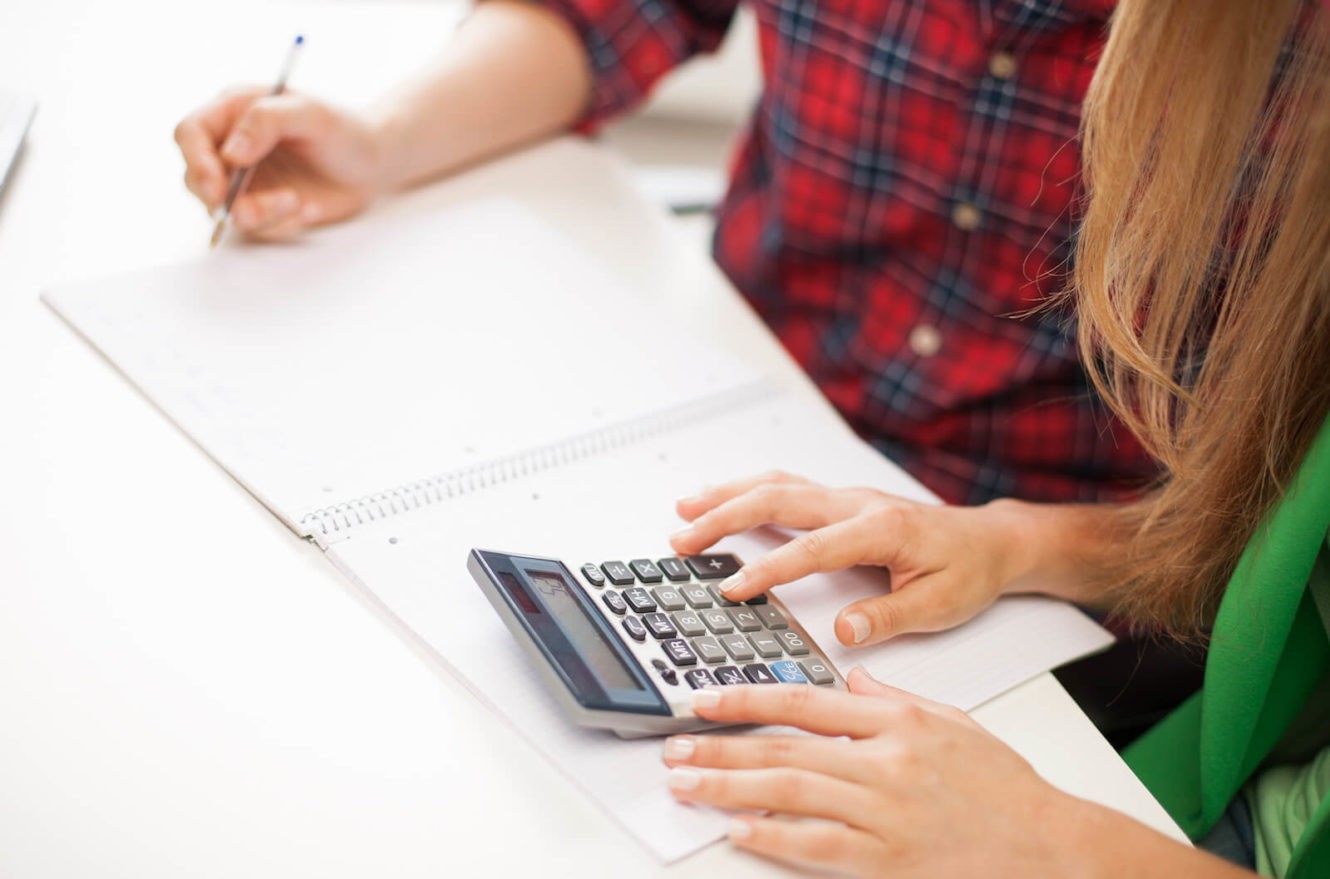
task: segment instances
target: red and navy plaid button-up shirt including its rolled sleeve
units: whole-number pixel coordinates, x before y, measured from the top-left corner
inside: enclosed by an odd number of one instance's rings
[[[714,49],[737,0],[544,0],[588,121]],[[716,259],[850,423],[944,499],[1097,500],[1154,468],[1067,314],[1080,104],[1111,0],[753,0],[765,88]],[[1023,316],[1024,315],[1024,316]]]

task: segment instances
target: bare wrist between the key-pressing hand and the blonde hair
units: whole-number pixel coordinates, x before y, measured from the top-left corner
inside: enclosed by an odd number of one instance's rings
[[[983,511],[1011,548],[1003,592],[1043,593],[1108,609],[1117,564],[1132,527],[1120,504],[1031,504],[999,500]]]

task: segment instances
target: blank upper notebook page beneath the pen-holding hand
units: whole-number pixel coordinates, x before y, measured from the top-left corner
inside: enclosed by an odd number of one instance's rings
[[[289,524],[758,378],[503,195],[48,301]]]

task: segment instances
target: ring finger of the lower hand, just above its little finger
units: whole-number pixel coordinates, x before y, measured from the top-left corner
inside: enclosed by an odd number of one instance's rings
[[[678,766],[669,771],[669,789],[685,802],[834,818],[851,826],[861,826],[875,811],[867,787],[802,769]]]

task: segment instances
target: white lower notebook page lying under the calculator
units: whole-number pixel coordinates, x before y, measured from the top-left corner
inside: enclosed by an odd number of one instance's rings
[[[674,860],[721,838],[725,816],[673,801],[660,739],[621,741],[568,721],[466,572],[467,553],[553,556],[571,566],[660,557],[681,524],[674,497],[769,468],[927,499],[838,423],[810,418],[815,411],[798,394],[782,394],[593,461],[352,528],[329,553],[626,832]],[[743,536],[721,549],[754,557],[767,545],[767,537]],[[1112,640],[1061,602],[1008,598],[947,633],[841,646],[833,614],[882,584],[880,570],[855,569],[809,577],[779,594],[842,670],[862,664],[888,684],[966,709]]]

